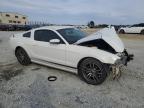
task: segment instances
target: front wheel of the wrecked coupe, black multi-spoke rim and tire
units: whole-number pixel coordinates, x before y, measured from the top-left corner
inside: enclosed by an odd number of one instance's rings
[[[107,77],[107,71],[103,63],[94,59],[84,59],[78,67],[78,75],[88,84],[99,85]]]

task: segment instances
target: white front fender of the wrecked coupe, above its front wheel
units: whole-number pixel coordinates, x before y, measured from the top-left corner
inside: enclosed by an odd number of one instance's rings
[[[82,59],[88,57],[95,58],[105,64],[114,64],[120,59],[115,54],[85,46],[69,45],[66,52],[66,64],[72,67],[77,67]]]

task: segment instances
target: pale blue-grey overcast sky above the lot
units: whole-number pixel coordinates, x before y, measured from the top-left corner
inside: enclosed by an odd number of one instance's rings
[[[144,22],[144,0],[0,0],[0,11],[55,24]]]

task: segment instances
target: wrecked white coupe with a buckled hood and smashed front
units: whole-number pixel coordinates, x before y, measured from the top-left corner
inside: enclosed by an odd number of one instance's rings
[[[22,65],[31,62],[78,73],[85,82],[101,84],[112,70],[119,73],[133,57],[128,55],[114,28],[87,36],[77,28],[48,26],[10,37]]]

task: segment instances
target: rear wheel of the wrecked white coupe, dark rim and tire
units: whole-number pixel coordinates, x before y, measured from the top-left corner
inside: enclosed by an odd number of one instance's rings
[[[20,64],[26,66],[31,63],[31,59],[23,48],[16,49],[15,55]]]

